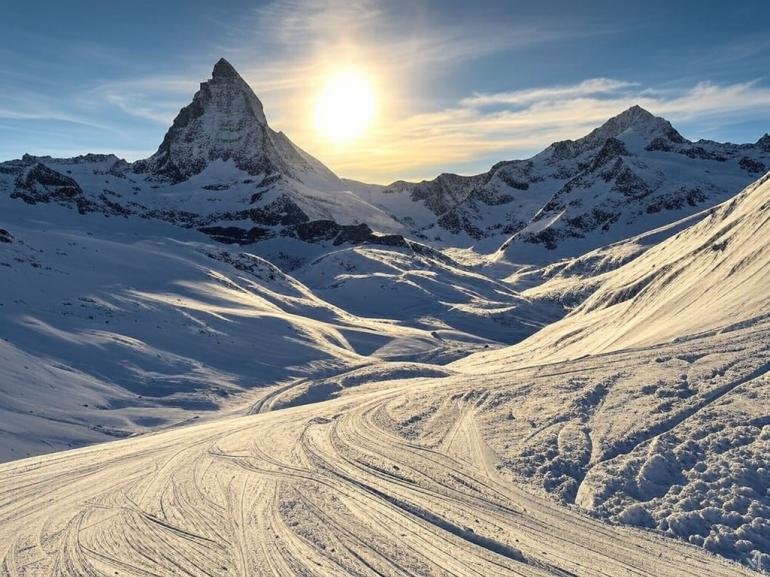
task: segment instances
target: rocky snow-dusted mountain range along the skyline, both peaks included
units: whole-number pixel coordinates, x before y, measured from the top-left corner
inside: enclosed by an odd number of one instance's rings
[[[411,239],[544,264],[718,204],[767,167],[770,135],[744,145],[690,142],[634,106],[583,138],[484,174],[363,185],[338,178],[270,128],[262,103],[222,59],[150,158],[25,155],[0,164],[0,190],[81,213],[165,220],[225,243],[272,241],[255,250],[273,256],[282,238],[402,246]],[[303,262],[317,251],[277,252]]]

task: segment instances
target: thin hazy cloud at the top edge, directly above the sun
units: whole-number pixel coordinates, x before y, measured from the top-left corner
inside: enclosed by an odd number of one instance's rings
[[[423,2],[274,0],[223,29],[212,48],[247,62],[244,76],[268,90],[276,82],[286,89],[312,86],[330,67],[350,64],[395,86],[415,74],[437,76],[504,50],[607,33],[598,27],[436,16]]]

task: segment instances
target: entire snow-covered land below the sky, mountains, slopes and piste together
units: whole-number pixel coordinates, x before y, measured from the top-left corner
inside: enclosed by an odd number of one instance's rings
[[[0,164],[0,573],[770,573],[766,140],[367,185],[222,60]]]

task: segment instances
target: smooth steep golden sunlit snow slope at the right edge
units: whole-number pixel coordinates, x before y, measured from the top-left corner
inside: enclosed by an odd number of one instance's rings
[[[769,275],[766,175],[700,222],[605,275],[567,318],[503,354],[575,358],[751,324],[770,313]]]

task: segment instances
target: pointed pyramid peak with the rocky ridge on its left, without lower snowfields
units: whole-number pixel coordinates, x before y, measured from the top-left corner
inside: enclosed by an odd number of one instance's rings
[[[350,189],[269,127],[261,102],[224,59],[146,160],[25,155],[0,164],[0,193],[28,204],[162,220],[223,243],[262,241],[262,253],[282,266],[318,245],[406,245],[397,236],[403,226]],[[281,248],[273,251],[276,239]]]

